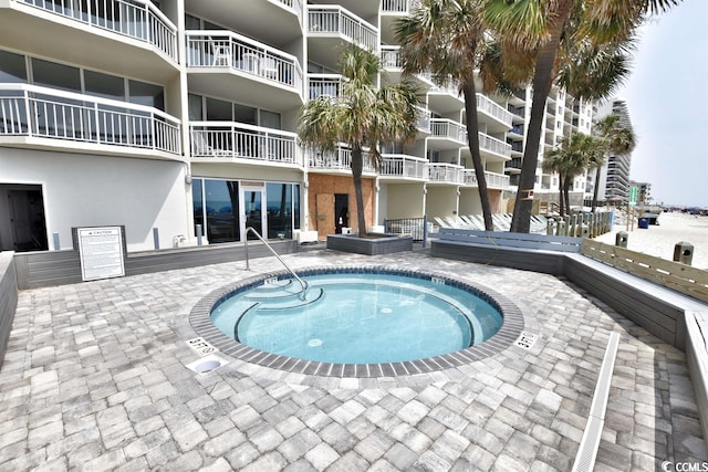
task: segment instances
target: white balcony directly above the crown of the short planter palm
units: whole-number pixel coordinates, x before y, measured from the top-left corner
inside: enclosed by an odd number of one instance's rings
[[[339,6],[308,6],[308,50],[313,61],[334,69],[342,41],[378,50],[378,30]]]

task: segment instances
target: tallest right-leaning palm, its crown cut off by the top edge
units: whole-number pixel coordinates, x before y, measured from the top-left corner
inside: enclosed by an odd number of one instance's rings
[[[645,19],[680,0],[485,0],[486,20],[506,41],[534,51],[533,101],[511,231],[529,232],[545,101],[562,41],[622,44]],[[576,34],[569,34],[574,31]]]

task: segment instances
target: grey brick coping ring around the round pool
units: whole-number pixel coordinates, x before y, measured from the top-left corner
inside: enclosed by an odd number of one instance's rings
[[[189,313],[189,324],[195,332],[207,343],[219,349],[222,354],[235,357],[242,361],[284,370],[293,374],[303,374],[322,377],[351,377],[351,378],[381,378],[409,376],[417,374],[428,374],[455,368],[501,353],[510,347],[524,328],[524,318],[521,310],[511,300],[488,287],[480,287],[469,282],[450,279],[448,275],[436,271],[419,271],[406,269],[392,269],[385,264],[345,264],[345,265],[322,265],[299,270],[301,274],[316,274],[323,272],[354,272],[354,271],[379,271],[386,273],[402,274],[417,279],[439,277],[446,282],[467,290],[471,290],[477,295],[483,297],[502,313],[503,322],[499,331],[489,339],[478,345],[416,360],[402,363],[383,364],[334,364],[316,360],[298,359],[279,354],[267,353],[246,346],[231,339],[223,334],[211,322],[211,310],[230,293],[254,286],[273,276],[289,276],[285,270],[274,271],[247,277],[241,281],[227,284],[214,290],[195,304]]]

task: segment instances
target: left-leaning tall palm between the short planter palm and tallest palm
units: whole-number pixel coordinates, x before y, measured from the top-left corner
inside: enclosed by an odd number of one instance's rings
[[[403,70],[415,74],[430,72],[438,83],[459,84],[465,99],[467,141],[472,156],[485,229],[493,231],[491,204],[487,191],[485,166],[479,151],[477,119],[477,71],[487,78],[491,65],[480,67],[490,39],[481,23],[481,0],[423,0],[410,17],[398,20],[396,40],[400,48]],[[483,80],[483,92],[496,88],[496,82]]]

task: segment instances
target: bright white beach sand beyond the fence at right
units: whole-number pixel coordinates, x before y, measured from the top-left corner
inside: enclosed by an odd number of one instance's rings
[[[688,213],[662,213],[659,224],[649,229],[634,229],[627,232],[627,249],[657,258],[674,260],[674,247],[678,242],[688,242],[694,247],[691,264],[696,269],[708,270],[708,217]],[[627,231],[625,224],[615,224],[608,233],[595,238],[595,241],[615,244],[616,233]]]

